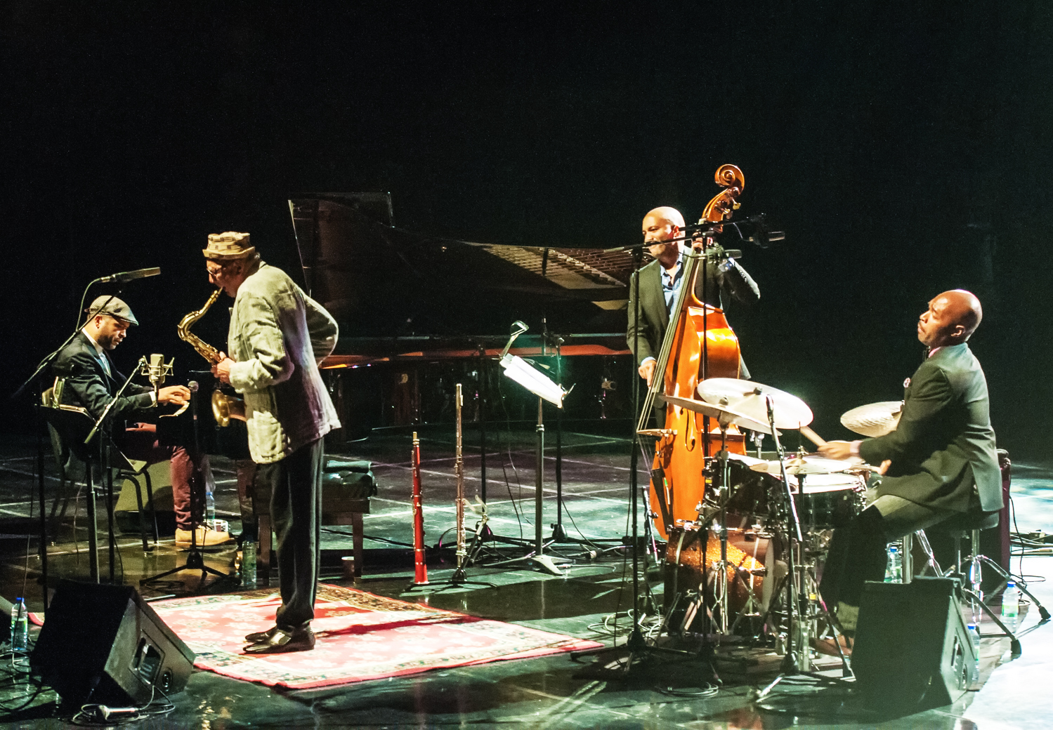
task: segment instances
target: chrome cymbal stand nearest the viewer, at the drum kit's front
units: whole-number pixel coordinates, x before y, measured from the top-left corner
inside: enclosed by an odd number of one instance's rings
[[[776,676],[767,687],[764,687],[757,693],[755,699],[758,701],[767,697],[780,682],[782,682],[788,677],[809,676],[814,680],[818,680],[822,683],[831,685],[840,685],[845,682],[843,680],[823,676],[822,674],[812,671],[812,662],[808,653],[810,647],[804,646],[803,642],[804,632],[801,631],[802,628],[801,622],[803,621],[803,619],[801,617],[801,606],[798,605],[798,601],[800,601],[800,594],[802,591],[800,590],[801,586],[797,585],[799,577],[795,562],[795,557],[798,551],[801,550],[801,546],[803,545],[804,540],[800,531],[800,519],[797,514],[797,505],[793,499],[793,488],[790,486],[790,479],[789,475],[787,474],[786,450],[782,448],[782,444],[779,441],[779,432],[775,428],[775,412],[772,407],[772,399],[770,396],[766,396],[764,400],[768,404],[768,422],[772,429],[772,439],[775,441],[775,451],[778,454],[779,459],[779,470],[781,472],[781,478],[782,478],[782,490],[783,490],[782,496],[786,500],[787,504],[787,527],[788,527],[787,576],[784,579],[786,591],[787,591],[787,596],[786,596],[787,653],[782,657],[782,663],[779,666],[778,676]],[[803,474],[798,474],[797,478],[799,480],[797,487],[798,493],[801,493],[803,489],[802,484],[804,481],[802,479]],[[823,613],[826,614],[827,619],[830,620],[830,614],[827,613],[826,611],[823,611]],[[845,654],[840,651],[839,642],[837,642],[836,638],[836,628],[834,627],[834,622],[830,620],[829,624],[832,628],[834,628],[835,644],[838,644],[838,653],[841,654],[842,674],[849,676],[851,675],[852,670],[849,667],[848,662],[846,661]],[[796,641],[798,638],[802,640],[800,642],[801,646],[796,645]]]

